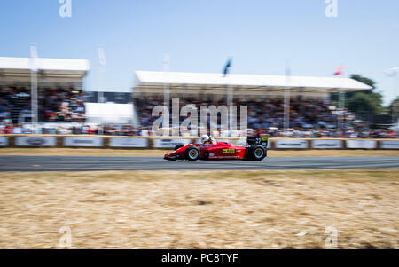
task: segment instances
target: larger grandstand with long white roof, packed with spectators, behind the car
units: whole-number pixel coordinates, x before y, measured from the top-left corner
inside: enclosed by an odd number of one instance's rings
[[[248,125],[253,129],[334,129],[339,121],[352,119],[333,106],[334,92],[371,90],[349,78],[272,75],[227,75],[137,71],[133,95],[142,126],[153,122],[153,106],[163,105],[164,90],[186,104],[248,106]],[[287,99],[290,99],[287,101]],[[287,107],[286,107],[287,106]],[[288,115],[286,115],[288,114]],[[285,118],[288,118],[285,122]]]

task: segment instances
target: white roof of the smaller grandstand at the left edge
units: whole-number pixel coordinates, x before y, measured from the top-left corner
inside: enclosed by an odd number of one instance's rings
[[[30,58],[1,58],[0,69],[21,69],[31,68]],[[89,71],[90,64],[86,59],[35,59],[35,67],[40,70],[58,71]]]

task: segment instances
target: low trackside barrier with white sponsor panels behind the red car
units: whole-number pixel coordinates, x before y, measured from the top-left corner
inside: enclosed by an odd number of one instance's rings
[[[219,142],[244,145],[245,138],[216,138]],[[115,137],[0,135],[4,147],[88,147],[123,149],[170,149],[178,144],[200,143],[199,137]],[[399,139],[270,138],[269,149],[399,149]]]

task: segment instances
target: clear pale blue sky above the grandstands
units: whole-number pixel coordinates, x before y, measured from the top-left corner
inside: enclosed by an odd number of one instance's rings
[[[399,1],[338,0],[338,17],[325,0],[72,0],[72,17],[59,0],[0,0],[0,56],[28,57],[36,43],[43,58],[89,59],[86,88],[98,90],[97,48],[106,53],[106,90],[129,91],[135,70],[345,76],[378,82],[385,104],[397,97]],[[103,88],[104,89],[104,88]]]

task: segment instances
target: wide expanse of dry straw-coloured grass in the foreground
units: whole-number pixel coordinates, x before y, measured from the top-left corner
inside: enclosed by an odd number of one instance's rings
[[[399,248],[398,173],[1,173],[0,248]]]

